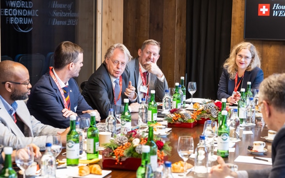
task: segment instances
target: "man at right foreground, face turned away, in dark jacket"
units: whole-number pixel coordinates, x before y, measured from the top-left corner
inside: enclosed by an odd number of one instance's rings
[[[285,73],[272,74],[259,86],[259,104],[270,130],[277,131],[272,142],[272,167],[232,172],[222,157],[213,166],[209,178],[283,178],[285,175]]]

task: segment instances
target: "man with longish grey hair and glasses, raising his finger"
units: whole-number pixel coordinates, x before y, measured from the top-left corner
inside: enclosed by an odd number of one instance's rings
[[[84,86],[82,95],[91,107],[98,110],[102,119],[107,118],[110,108],[115,110],[116,104],[123,104],[125,98],[131,103],[137,100],[135,88],[125,71],[131,58],[124,44],[111,45],[105,54],[104,62]],[[135,104],[132,110],[138,110],[138,107],[139,104]]]

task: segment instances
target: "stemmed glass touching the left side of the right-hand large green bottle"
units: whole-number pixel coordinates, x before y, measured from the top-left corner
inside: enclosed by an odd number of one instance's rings
[[[214,138],[218,134],[218,123],[214,120],[206,120],[204,123],[203,135],[207,136],[207,142],[210,144],[211,154],[209,156],[209,161],[215,161],[214,155]]]

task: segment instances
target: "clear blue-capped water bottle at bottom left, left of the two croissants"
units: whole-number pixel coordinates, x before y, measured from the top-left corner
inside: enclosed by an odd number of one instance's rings
[[[45,154],[41,158],[41,169],[43,178],[55,178],[56,162],[51,152],[51,143],[46,144]]]

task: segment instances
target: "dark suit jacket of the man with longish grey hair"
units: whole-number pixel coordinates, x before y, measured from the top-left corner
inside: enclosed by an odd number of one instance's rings
[[[124,99],[127,98],[124,92],[128,86],[128,78],[129,75],[125,70],[122,74],[121,104],[123,104]],[[101,64],[95,73],[90,76],[84,86],[82,95],[91,107],[97,109],[100,113],[101,119],[107,118],[110,108],[113,108],[115,111],[116,105],[114,104],[112,81],[105,64]]]

